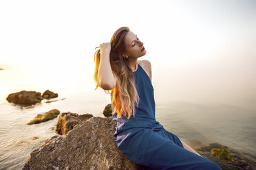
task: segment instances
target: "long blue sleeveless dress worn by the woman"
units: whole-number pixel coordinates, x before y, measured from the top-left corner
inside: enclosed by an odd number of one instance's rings
[[[138,165],[144,165],[146,169],[207,169],[220,170],[220,166],[215,162],[198,156],[191,151],[184,149],[180,138],[167,131],[156,121],[156,104],[153,94],[153,86],[149,75],[138,64],[138,69],[134,71],[136,89],[140,97],[136,106],[135,117],[130,119],[122,116],[117,118],[117,113],[113,119],[117,121],[116,145],[118,149],[129,160]],[[111,106],[114,110],[113,106]]]

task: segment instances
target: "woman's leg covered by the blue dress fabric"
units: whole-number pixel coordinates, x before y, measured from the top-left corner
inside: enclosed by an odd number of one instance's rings
[[[175,142],[162,136],[162,132],[145,129],[132,136],[120,149],[129,160],[148,169],[221,170],[215,162],[184,149],[174,134],[169,135]]]

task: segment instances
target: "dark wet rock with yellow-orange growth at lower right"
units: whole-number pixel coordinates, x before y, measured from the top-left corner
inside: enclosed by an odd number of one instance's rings
[[[220,165],[222,170],[254,169],[256,167],[255,156],[228,148],[219,143],[211,143],[197,151],[203,157],[209,158]]]

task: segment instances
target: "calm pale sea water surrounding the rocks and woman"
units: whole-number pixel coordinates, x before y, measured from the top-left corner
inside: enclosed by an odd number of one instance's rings
[[[56,108],[61,112],[104,117],[102,112],[111,104],[110,96],[94,88],[92,73],[0,71],[0,169],[22,169],[30,152],[56,134],[57,118],[26,125],[36,114]],[[52,103],[43,100],[30,107],[6,101],[10,93],[21,90],[43,93],[47,89],[58,93],[57,99],[65,99]],[[154,86],[154,93],[158,96],[164,92]],[[194,149],[220,143],[256,156],[256,114],[252,108],[159,99],[156,100],[156,120]],[[34,136],[39,138],[33,141]]]

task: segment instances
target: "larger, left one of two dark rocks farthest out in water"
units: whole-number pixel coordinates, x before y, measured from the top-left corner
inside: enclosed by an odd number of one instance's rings
[[[6,100],[14,104],[31,105],[41,102],[42,97],[40,92],[22,90],[17,93],[11,93]]]

